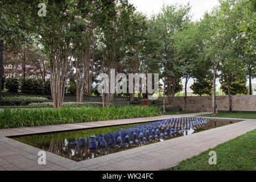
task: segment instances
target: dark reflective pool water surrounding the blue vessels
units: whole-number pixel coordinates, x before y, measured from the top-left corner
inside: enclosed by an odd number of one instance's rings
[[[118,144],[116,148],[112,146],[107,146],[107,147],[98,146],[96,149],[89,148],[88,137],[96,136],[99,134],[112,133],[113,131],[126,129],[127,127],[133,127],[135,125],[122,126],[122,129],[118,129],[118,127],[120,126],[117,126],[117,127],[108,127],[108,128],[101,128],[101,129],[54,133],[54,134],[47,134],[47,135],[32,135],[32,136],[18,137],[13,139],[23,143],[30,144],[31,146],[41,148],[42,150],[52,152],[53,154],[60,155],[71,160],[81,161],[86,159],[97,158],[98,156],[108,155],[114,152],[119,152],[119,151],[127,150],[130,148],[144,146],[144,145],[155,143],[155,142],[162,142],[163,140],[181,137],[183,135],[191,135],[193,133],[212,129],[214,127],[229,125],[230,123],[234,123],[234,122],[237,122],[237,121],[227,122],[227,121],[211,120],[210,122],[205,123],[204,126],[202,125],[197,129],[190,128],[188,130],[185,130],[184,133],[177,134],[174,137],[171,137],[170,135],[168,135],[168,137],[164,137],[163,139],[152,140],[152,141],[149,141],[147,138],[146,142],[141,141],[138,144],[136,144],[135,141],[133,140],[135,144],[129,144],[128,146],[122,146],[121,144]],[[79,145],[71,146],[69,144],[69,142],[71,141],[79,142],[79,139],[82,139],[82,138],[87,139],[86,146],[79,146]]]

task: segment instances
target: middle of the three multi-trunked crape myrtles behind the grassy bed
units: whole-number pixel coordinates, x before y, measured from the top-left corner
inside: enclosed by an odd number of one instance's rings
[[[101,1],[80,1],[75,7],[76,26],[72,39],[73,56],[75,57],[77,102],[82,102],[84,92],[92,92],[92,75],[95,61],[99,16],[102,14]]]

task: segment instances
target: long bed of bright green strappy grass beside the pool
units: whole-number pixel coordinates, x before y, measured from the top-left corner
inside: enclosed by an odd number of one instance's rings
[[[123,107],[62,107],[61,109],[2,109],[0,111],[0,129],[11,127],[29,127],[153,117],[161,115],[159,107],[123,106]]]

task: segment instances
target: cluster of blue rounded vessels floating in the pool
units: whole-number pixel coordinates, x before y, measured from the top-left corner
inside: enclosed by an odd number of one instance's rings
[[[188,130],[197,129],[208,122],[209,119],[181,117],[137,125],[133,128],[126,127],[125,129],[114,131],[114,133],[89,137],[89,148],[97,148],[97,146],[110,146],[113,148],[129,145],[134,146],[154,140],[175,137],[176,135],[183,135]],[[85,146],[86,139],[79,139],[79,142],[70,142],[71,146],[77,146],[77,144],[79,146]]]

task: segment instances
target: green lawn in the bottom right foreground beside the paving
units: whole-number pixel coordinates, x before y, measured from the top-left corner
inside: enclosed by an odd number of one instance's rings
[[[256,130],[222,143],[190,159],[183,160],[174,170],[256,170]],[[210,165],[209,152],[215,151],[217,164]],[[172,170],[172,169],[168,169]]]

